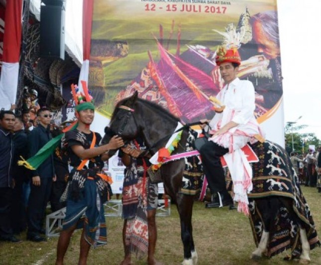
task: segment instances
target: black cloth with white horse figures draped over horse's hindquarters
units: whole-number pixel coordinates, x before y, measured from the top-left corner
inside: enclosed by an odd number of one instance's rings
[[[269,141],[251,145],[259,158],[253,163],[253,189],[248,194],[250,223],[256,245],[260,242],[263,231],[262,214],[255,200],[269,196],[283,196],[293,201],[296,216],[284,206],[280,206],[273,231],[268,241],[268,257],[272,257],[286,249],[292,250],[292,258],[301,255],[300,229],[296,219],[300,218],[307,232],[310,248],[320,245],[315,223],[309,205],[302,194],[299,178],[291,166],[287,152],[279,145]]]

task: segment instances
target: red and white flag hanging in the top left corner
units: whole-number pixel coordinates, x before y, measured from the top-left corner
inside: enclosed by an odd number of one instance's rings
[[[21,28],[22,0],[6,1],[0,76],[0,107],[5,110],[15,103],[17,94]]]

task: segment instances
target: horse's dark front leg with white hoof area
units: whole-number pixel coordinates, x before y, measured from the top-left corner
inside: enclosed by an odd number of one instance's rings
[[[184,261],[182,265],[196,265],[197,253],[194,246],[192,228],[194,196],[178,193],[176,198],[176,206],[181,221],[181,237],[184,246]]]

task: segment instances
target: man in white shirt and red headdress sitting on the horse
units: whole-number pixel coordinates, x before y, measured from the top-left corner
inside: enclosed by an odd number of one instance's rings
[[[251,169],[240,149],[248,142],[256,142],[254,136],[259,138],[261,134],[254,117],[255,92],[251,82],[239,80],[236,76],[241,62],[236,47],[230,49],[219,47],[216,54],[215,61],[224,80],[224,87],[216,96],[219,107],[215,108],[216,114],[210,121],[212,137],[199,150],[211,193],[214,194],[214,202],[207,204],[207,207],[222,207],[231,203],[220,162],[220,157],[226,154],[224,158],[233,179],[234,200],[239,202],[240,211],[246,211],[246,192],[240,190],[251,189],[249,184],[251,181],[248,181],[251,177],[251,175],[248,176]],[[202,122],[205,121],[202,120]],[[230,163],[231,157],[227,154],[232,153],[234,162],[237,161],[237,163]],[[235,181],[235,179],[239,180]],[[243,209],[240,209],[242,207]]]

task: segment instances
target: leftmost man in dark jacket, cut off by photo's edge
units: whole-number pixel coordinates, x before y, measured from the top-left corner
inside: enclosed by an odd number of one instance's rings
[[[11,167],[13,161],[13,130],[15,116],[12,111],[0,112],[0,241],[21,242],[13,236],[10,223],[12,204]]]

